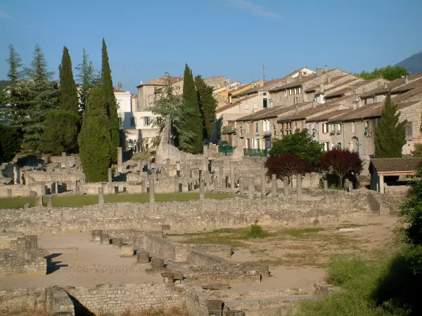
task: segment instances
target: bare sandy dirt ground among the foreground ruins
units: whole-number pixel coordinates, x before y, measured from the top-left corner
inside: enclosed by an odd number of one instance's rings
[[[370,257],[392,248],[395,216],[362,216],[317,228],[300,225],[263,227],[269,233],[264,239],[245,239],[248,228],[173,234],[170,239],[186,243],[231,244],[233,262],[260,261],[269,264],[271,277],[262,282],[230,284],[225,290],[232,296],[257,290],[307,288],[324,280],[331,255]],[[339,228],[353,231],[340,232]],[[120,258],[120,250],[89,242],[89,232],[39,235],[39,247],[49,251],[48,275],[0,277],[0,289],[18,287],[51,287],[53,285],[94,287],[105,283],[162,282],[160,275],[146,275],[149,265],[134,266],[136,258]],[[222,293],[223,294],[223,293]]]

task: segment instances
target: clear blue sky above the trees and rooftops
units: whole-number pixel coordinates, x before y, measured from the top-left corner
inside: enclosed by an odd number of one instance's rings
[[[51,70],[68,46],[101,65],[106,39],[115,85],[136,92],[164,72],[283,77],[299,67],[350,72],[393,65],[422,50],[421,0],[1,0],[0,79],[8,44],[30,64],[35,44]]]

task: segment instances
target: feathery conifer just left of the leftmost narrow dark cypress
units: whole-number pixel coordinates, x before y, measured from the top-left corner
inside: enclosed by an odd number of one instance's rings
[[[32,152],[41,150],[44,117],[49,110],[58,106],[60,95],[57,82],[51,81],[53,72],[49,72],[47,68],[44,53],[36,45],[31,67],[26,69],[29,77],[25,83],[28,103],[23,126],[23,145],[25,150]]]

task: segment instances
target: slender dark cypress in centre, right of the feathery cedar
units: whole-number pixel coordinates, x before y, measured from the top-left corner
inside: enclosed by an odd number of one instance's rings
[[[192,70],[187,64],[184,71],[183,98],[186,107],[189,107],[192,112],[186,121],[186,130],[194,134],[193,138],[186,140],[191,147],[187,151],[197,154],[202,150],[203,145],[203,119],[198,107],[198,95],[196,93],[195,82],[193,81]],[[180,145],[182,146],[183,144]]]

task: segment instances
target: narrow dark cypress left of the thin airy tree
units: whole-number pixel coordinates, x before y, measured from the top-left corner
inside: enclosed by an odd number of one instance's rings
[[[63,47],[62,62],[59,66],[60,75],[60,109],[77,113],[79,101],[75,79],[73,78],[72,60],[70,60],[69,50]]]

